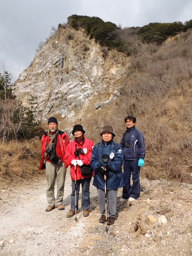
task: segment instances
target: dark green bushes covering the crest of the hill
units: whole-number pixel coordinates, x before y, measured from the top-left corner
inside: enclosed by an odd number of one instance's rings
[[[129,47],[129,42],[121,36],[120,27],[111,22],[104,22],[98,17],[89,17],[83,15],[71,15],[68,17],[68,24],[75,30],[83,27],[90,39],[94,38],[101,46],[106,46],[108,50],[116,48],[118,51],[126,53],[127,56],[137,54],[137,50]],[[143,43],[156,43],[161,45],[169,36],[176,36],[182,31],[192,28],[192,20],[173,23],[149,23],[143,27],[127,28],[131,34],[141,36]],[[121,35],[120,35],[121,34]],[[176,40],[176,39],[175,39]]]

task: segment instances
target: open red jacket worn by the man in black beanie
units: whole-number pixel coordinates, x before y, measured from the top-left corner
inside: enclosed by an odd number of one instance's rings
[[[45,149],[46,149],[46,146],[47,146],[47,139],[48,138],[49,138],[48,137],[48,132],[46,131],[44,133],[44,135],[42,136],[42,138],[41,138],[41,161],[40,161],[39,170],[45,169],[45,164],[43,164],[43,159],[44,159],[44,154],[45,154]],[[59,139],[59,143],[60,143],[60,146],[61,146],[61,152],[62,152],[62,156],[63,156],[63,159],[62,159],[61,162],[64,162],[65,168],[67,168],[68,165],[67,165],[66,160],[65,160],[65,154],[66,154],[67,145],[69,144],[69,138],[68,138],[68,136],[65,132],[59,130],[58,139]],[[58,141],[57,141],[57,143],[58,143]]]

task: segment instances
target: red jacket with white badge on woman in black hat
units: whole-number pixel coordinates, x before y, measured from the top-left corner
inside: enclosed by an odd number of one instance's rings
[[[75,144],[76,144],[77,149],[81,148],[84,151],[84,154],[79,154],[79,157],[80,157],[81,161],[83,162],[83,164],[89,164],[90,159],[91,159],[91,152],[94,147],[93,141],[86,139],[86,138],[85,138],[85,142],[81,141],[81,143],[79,145],[74,140],[71,141],[67,145],[65,160],[68,165],[71,165],[70,175],[71,175],[72,181],[75,180],[75,169],[74,169],[74,165],[71,164],[71,161],[73,159],[79,160],[78,155],[75,156],[75,154],[74,154]],[[88,176],[82,176],[81,171],[80,171],[80,166],[76,165],[76,179],[89,178],[89,177],[93,177],[93,176],[94,176],[94,171],[92,171],[92,173]]]

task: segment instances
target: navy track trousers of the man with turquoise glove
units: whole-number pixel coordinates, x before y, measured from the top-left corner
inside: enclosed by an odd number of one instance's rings
[[[137,199],[140,197],[140,167],[138,166],[139,160],[127,161],[124,160],[123,167],[123,177],[124,177],[124,186],[123,186],[123,195],[122,198],[127,199],[132,197]],[[131,189],[131,173],[132,173],[132,189]]]

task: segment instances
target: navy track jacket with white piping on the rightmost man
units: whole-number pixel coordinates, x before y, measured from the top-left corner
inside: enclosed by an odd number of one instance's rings
[[[129,148],[125,147],[124,142],[129,142]],[[143,133],[140,130],[135,129],[135,126],[127,128],[127,131],[123,133],[123,137],[120,142],[120,146],[123,149],[123,158],[125,160],[139,160],[145,158],[145,143]]]

